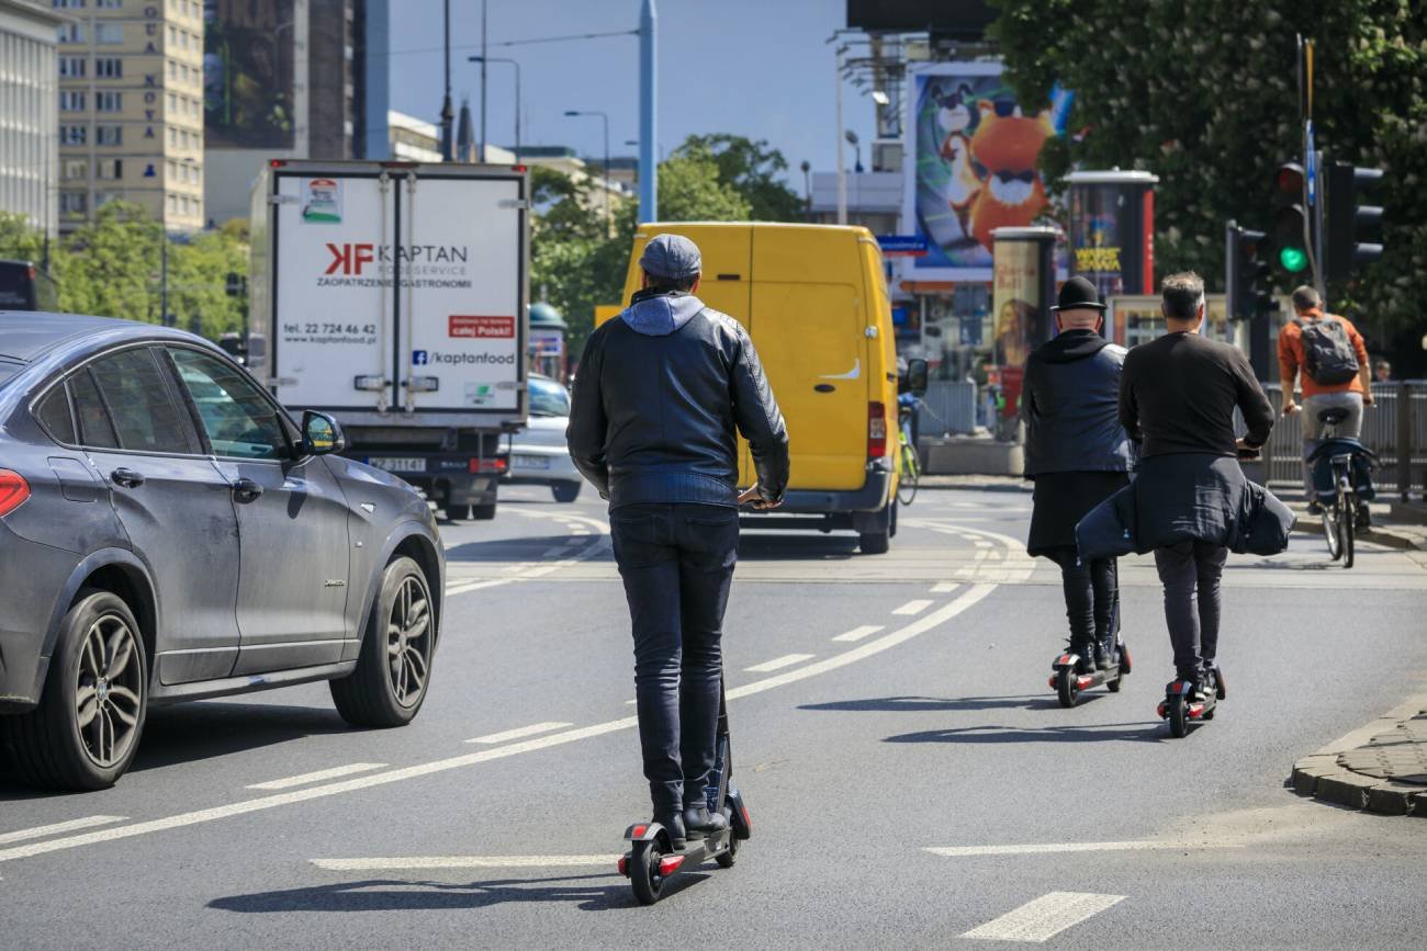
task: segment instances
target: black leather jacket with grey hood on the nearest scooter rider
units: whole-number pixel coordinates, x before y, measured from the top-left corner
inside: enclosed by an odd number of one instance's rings
[[[788,486],[788,429],[748,334],[691,294],[635,294],[585,344],[565,439],[609,508],[738,503],[738,432],[768,500]]]

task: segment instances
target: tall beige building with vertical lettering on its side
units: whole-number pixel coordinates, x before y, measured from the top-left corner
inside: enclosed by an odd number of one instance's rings
[[[203,4],[53,0],[59,27],[60,228],[108,201],[170,231],[201,228]]]

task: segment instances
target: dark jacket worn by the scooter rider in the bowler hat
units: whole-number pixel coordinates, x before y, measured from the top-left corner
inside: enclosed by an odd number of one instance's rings
[[[1072,329],[1030,354],[1020,394],[1026,478],[1132,469],[1119,416],[1124,352],[1095,331]]]

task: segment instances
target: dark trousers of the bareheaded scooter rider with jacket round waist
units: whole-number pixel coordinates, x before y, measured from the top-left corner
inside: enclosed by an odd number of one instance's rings
[[[1154,549],[1164,585],[1164,623],[1174,644],[1174,676],[1199,677],[1219,652],[1219,579],[1229,549],[1209,542],[1180,542]]]

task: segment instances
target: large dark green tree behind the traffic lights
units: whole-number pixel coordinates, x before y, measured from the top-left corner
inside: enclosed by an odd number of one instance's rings
[[[1271,224],[1273,173],[1301,153],[1294,34],[1316,40],[1314,124],[1330,160],[1380,165],[1383,259],[1330,287],[1368,327],[1421,321],[1427,272],[1427,10],[1420,0],[993,0],[1007,80],[1023,101],[1075,90],[1046,144],[1075,165],[1156,173],[1157,269],[1223,289],[1224,222]],[[1283,279],[1284,287],[1290,284]]]

